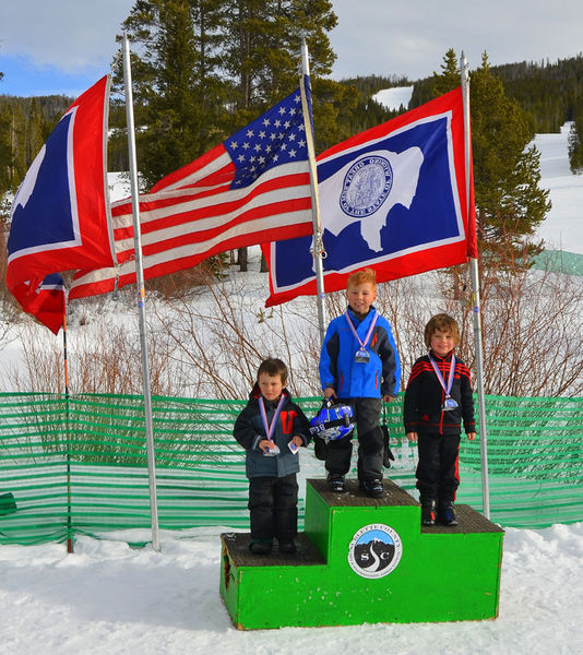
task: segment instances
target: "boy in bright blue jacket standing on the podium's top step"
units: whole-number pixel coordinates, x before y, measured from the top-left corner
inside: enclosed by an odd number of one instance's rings
[[[383,493],[383,434],[379,426],[382,402],[398,392],[401,365],[389,321],[372,302],[377,299],[374,271],[353,273],[346,284],[348,308],[333,319],[320,354],[320,381],[325,398],[352,406],[358,434],[358,480],[372,498]],[[330,487],[343,492],[350,468],[349,438],[330,441],[325,468]]]

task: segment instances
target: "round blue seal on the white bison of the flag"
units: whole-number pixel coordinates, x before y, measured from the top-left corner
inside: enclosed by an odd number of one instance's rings
[[[369,155],[350,166],[344,177],[340,205],[348,216],[362,218],[386,200],[393,188],[393,168],[385,157]]]

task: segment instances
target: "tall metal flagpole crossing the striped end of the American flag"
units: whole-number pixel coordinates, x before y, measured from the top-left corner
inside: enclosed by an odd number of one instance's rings
[[[147,364],[145,286],[142,267],[142,235],[140,230],[140,200],[138,189],[138,165],[135,156],[135,133],[133,124],[133,94],[130,69],[130,41],[123,32],[123,84],[126,88],[126,118],[128,122],[128,148],[130,154],[130,179],[132,190],[133,245],[135,252],[135,282],[139,290],[138,309],[140,314],[140,346],[142,352],[142,378],[144,391],[144,415],[147,446],[147,472],[150,481],[150,513],[152,520],[152,547],[159,552],[158,507],[156,499],[156,458],[154,454],[154,428],[152,421],[152,393]]]

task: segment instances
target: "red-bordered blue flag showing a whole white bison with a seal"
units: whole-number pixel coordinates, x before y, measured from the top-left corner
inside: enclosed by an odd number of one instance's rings
[[[386,282],[476,257],[461,88],[338,143],[317,166],[326,291],[364,266]],[[311,248],[311,237],[262,246],[267,307],[317,294]]]

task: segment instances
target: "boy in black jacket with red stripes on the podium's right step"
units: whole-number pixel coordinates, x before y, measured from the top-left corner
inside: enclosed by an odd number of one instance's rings
[[[425,327],[429,353],[419,357],[405,391],[404,422],[418,445],[417,489],[423,525],[457,525],[453,501],[460,485],[457,457],[462,421],[468,439],[476,437],[469,370],[455,357],[456,321],[437,314]]]

